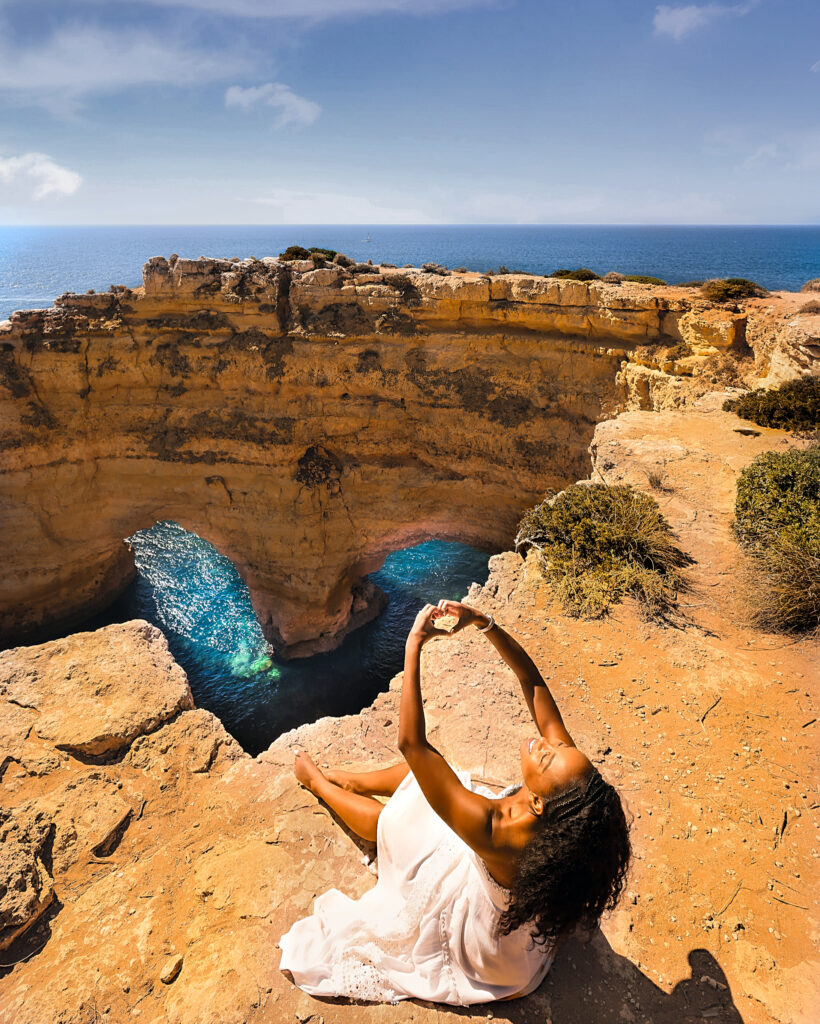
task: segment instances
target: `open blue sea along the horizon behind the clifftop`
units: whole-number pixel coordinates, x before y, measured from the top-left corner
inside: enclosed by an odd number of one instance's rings
[[[140,284],[150,256],[276,256],[289,245],[326,246],[355,259],[433,260],[470,270],[650,273],[671,284],[749,278],[799,289],[820,276],[820,226],[258,226],[0,227],[0,319],[50,305],[62,292]]]

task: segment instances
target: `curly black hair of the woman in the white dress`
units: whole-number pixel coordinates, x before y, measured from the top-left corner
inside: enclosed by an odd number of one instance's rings
[[[595,769],[545,808],[518,864],[501,935],[529,925],[534,942],[555,944],[575,926],[594,928],[617,903],[632,849],[617,790]]]

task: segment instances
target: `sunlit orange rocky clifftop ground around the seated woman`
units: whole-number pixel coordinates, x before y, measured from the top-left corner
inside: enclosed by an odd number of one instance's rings
[[[795,443],[706,406],[596,429],[596,478],[647,486],[687,569],[678,628],[627,602],[567,618],[536,568],[491,560],[470,599],[513,630],[573,737],[617,784],[635,860],[617,910],[524,999],[472,1010],[312,999],[279,936],[330,888],[373,885],[356,844],[291,774],[398,760],[400,677],[360,715],[244,754],[146,623],[0,654],[0,1020],[15,1024],[814,1024],[820,999],[816,640],[738,626],[735,480]],[[801,443],[797,441],[796,443]],[[467,630],[425,648],[432,741],[493,784],[532,722]],[[371,865],[372,866],[372,865]]]

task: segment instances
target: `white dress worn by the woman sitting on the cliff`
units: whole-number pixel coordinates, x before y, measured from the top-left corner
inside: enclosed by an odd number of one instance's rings
[[[471,785],[467,772],[462,783]],[[507,791],[508,793],[510,791]],[[497,936],[509,891],[430,807],[408,773],[379,817],[379,881],[358,900],[337,889],[279,940],[279,969],[311,995],[470,1006],[526,995],[552,964],[528,927]]]

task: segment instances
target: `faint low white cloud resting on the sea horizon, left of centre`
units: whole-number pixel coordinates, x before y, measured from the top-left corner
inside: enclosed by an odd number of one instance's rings
[[[273,188],[251,200],[268,207],[282,224],[429,224],[424,211],[366,196],[293,188]]]

